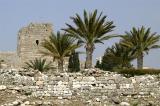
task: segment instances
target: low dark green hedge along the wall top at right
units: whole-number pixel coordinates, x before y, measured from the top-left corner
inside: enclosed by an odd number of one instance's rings
[[[133,77],[135,75],[158,75],[160,74],[159,69],[121,69],[116,70],[119,74],[123,74],[126,77]]]

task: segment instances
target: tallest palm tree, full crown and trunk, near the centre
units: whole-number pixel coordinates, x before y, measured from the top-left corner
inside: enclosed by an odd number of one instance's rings
[[[102,12],[97,16],[97,10],[89,14],[84,10],[83,15],[83,19],[78,14],[71,17],[75,26],[66,24],[68,28],[62,30],[77,38],[78,43],[85,44],[86,68],[91,68],[95,43],[103,43],[104,40],[112,38],[113,36],[106,34],[113,31],[115,26],[113,21],[106,21],[106,16],[102,16]]]

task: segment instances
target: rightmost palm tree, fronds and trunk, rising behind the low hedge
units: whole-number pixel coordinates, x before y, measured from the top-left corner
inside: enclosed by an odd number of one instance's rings
[[[125,47],[132,49],[132,53],[137,56],[137,68],[143,68],[144,54],[149,52],[150,49],[156,49],[160,46],[157,44],[160,36],[156,33],[151,33],[151,29],[145,27],[133,27],[130,32],[125,32],[122,36],[121,44]]]

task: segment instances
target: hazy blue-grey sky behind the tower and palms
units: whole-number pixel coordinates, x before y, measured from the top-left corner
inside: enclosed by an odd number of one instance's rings
[[[152,32],[160,34],[160,0],[0,0],[0,51],[16,51],[17,33],[29,23],[53,24],[54,32],[66,28],[65,23],[73,25],[70,16],[83,10],[92,12],[98,9],[114,21],[116,26],[112,33],[124,34],[132,27],[151,27]],[[118,39],[105,41],[96,45],[94,63],[104,54],[107,47]],[[80,50],[85,51],[82,47]],[[81,54],[82,61],[85,55]],[[135,62],[134,62],[135,64]],[[144,57],[144,66],[160,68],[160,50],[151,50]]]

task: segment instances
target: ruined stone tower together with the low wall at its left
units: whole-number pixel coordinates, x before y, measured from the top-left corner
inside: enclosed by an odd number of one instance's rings
[[[50,23],[30,23],[18,32],[17,51],[0,52],[0,59],[8,67],[20,67],[28,60],[42,57],[40,44],[51,33]]]

